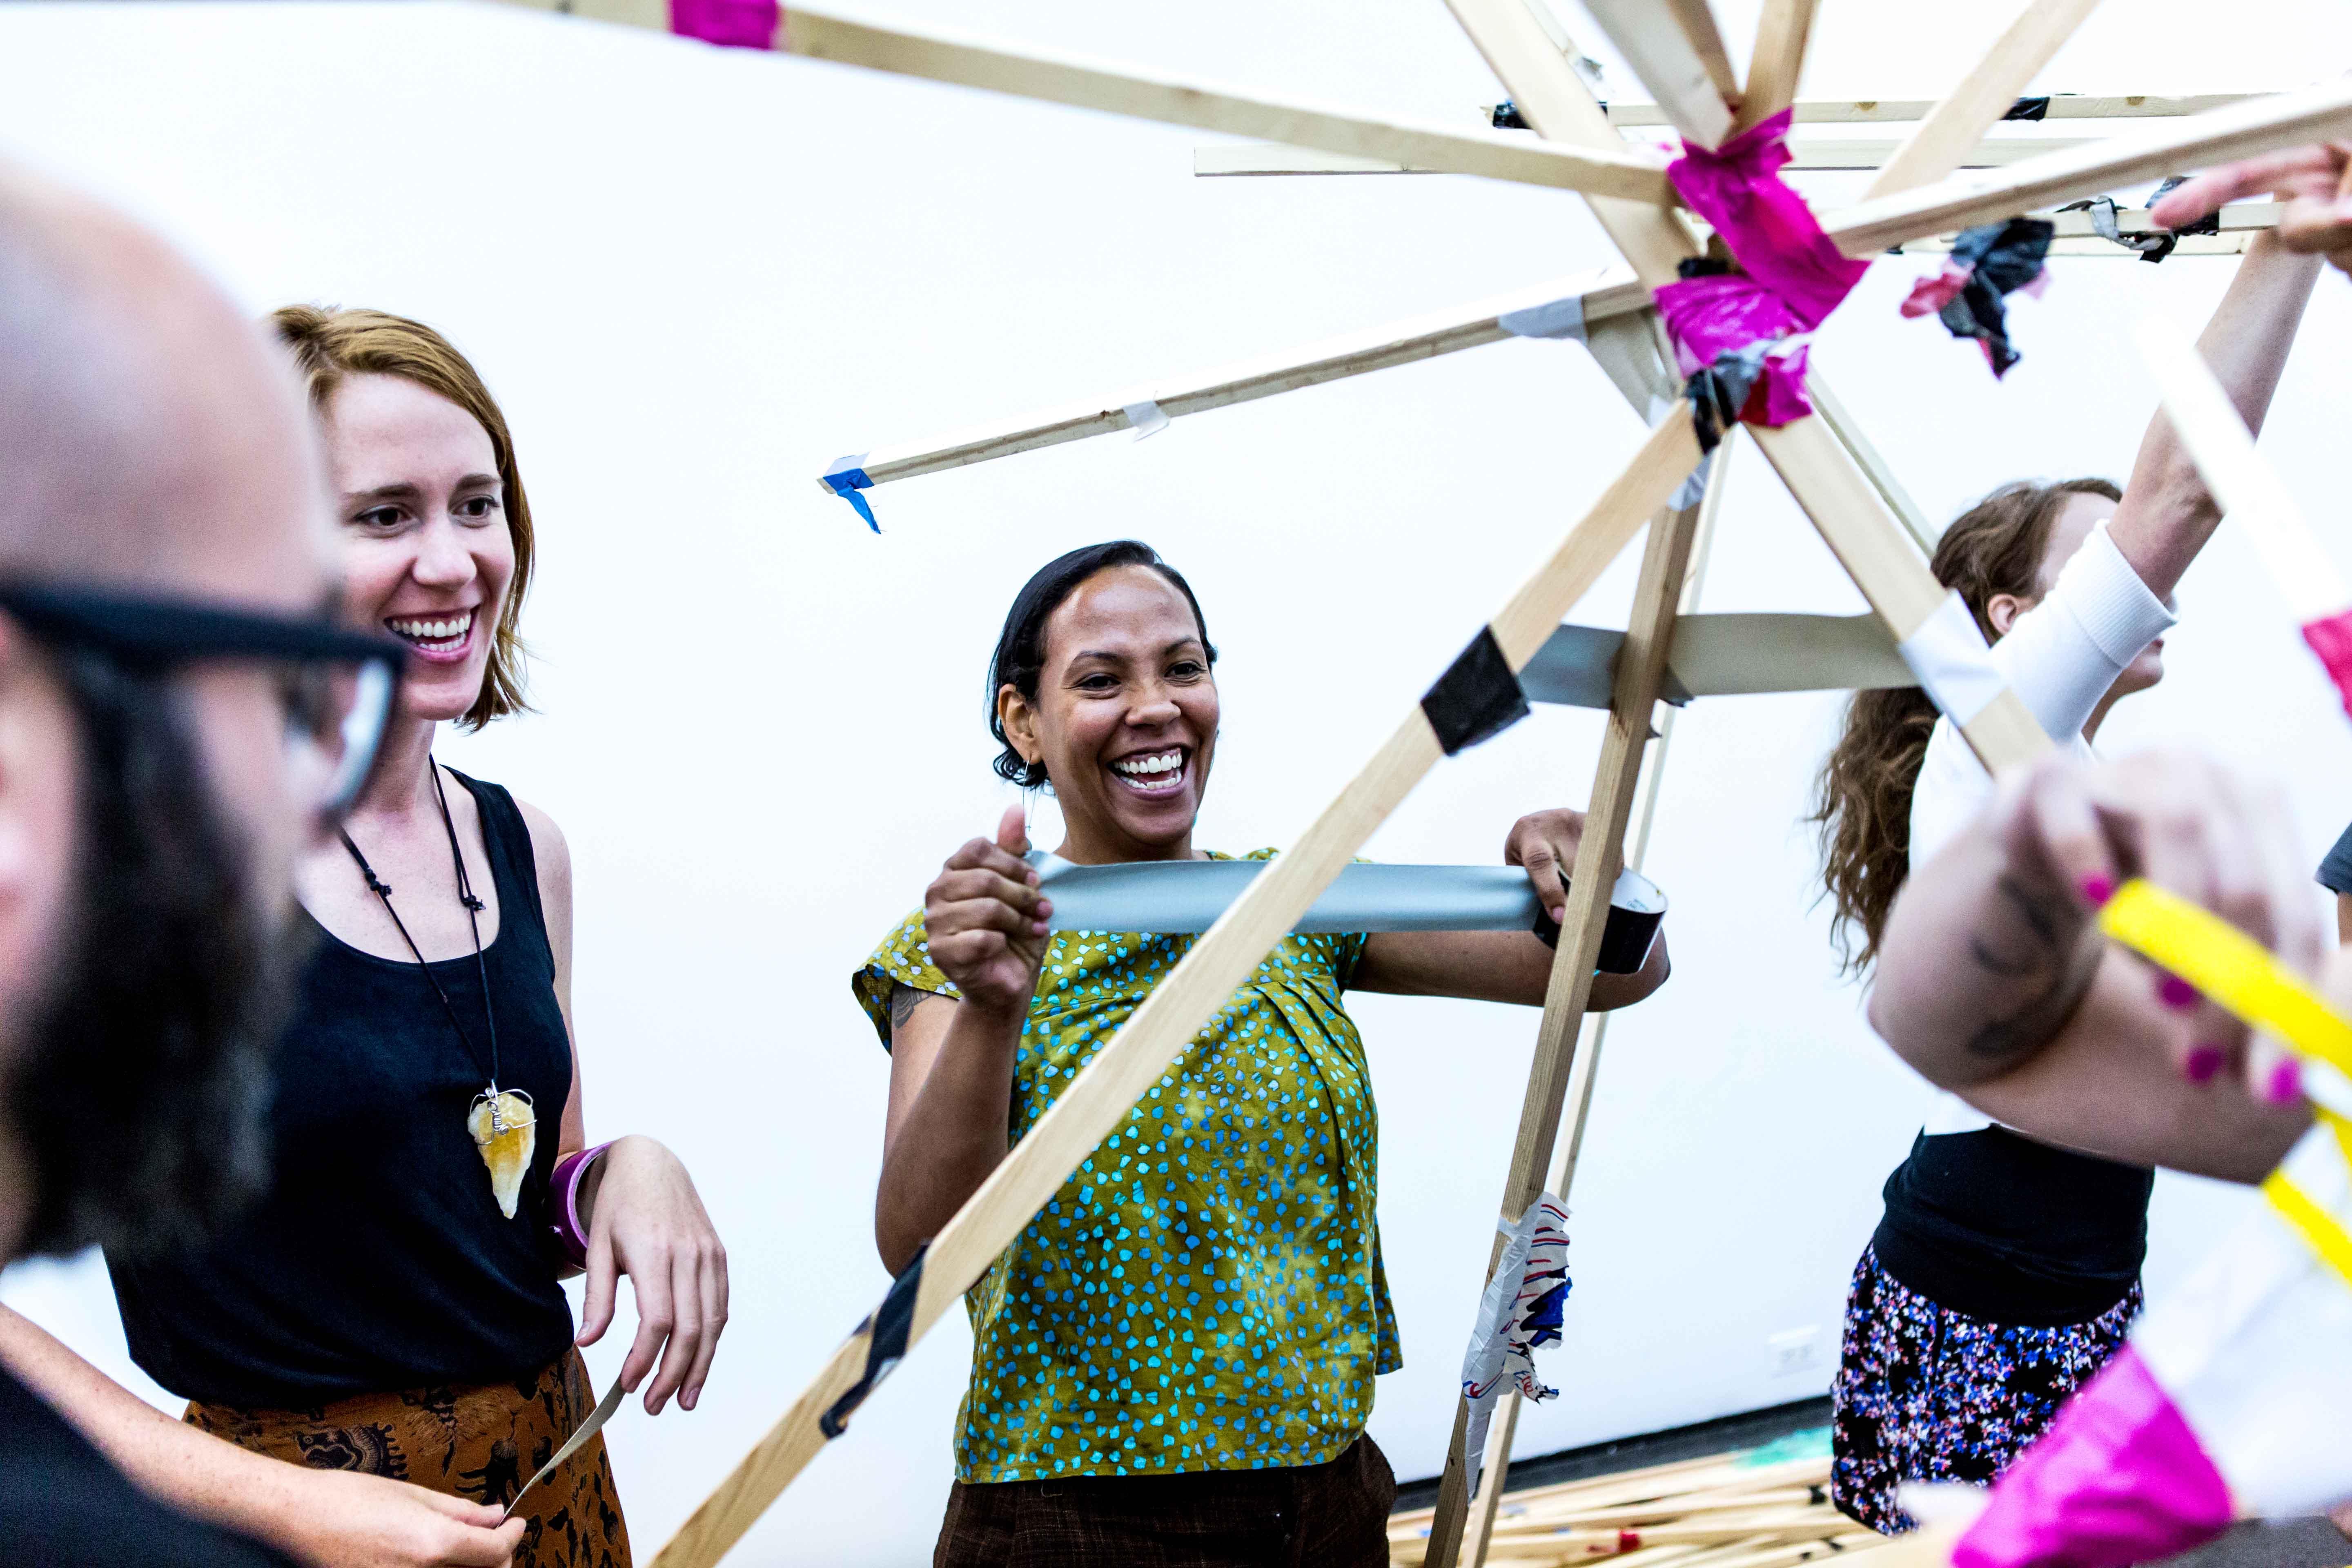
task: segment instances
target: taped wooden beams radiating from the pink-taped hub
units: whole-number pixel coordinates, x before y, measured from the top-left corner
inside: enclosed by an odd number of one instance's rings
[[[668,26],[661,0],[510,2],[637,26]],[[1649,522],[1632,623],[1616,663],[1609,736],[1602,745],[1585,837],[1571,872],[1569,917],[1559,936],[1559,954],[1552,966],[1534,1072],[1501,1204],[1505,1220],[1515,1220],[1543,1192],[1562,1114],[1569,1110],[1571,1081],[1576,1086],[1571,1126],[1581,1128],[1595,1056],[1585,1051],[1576,1060],[1573,1046],[1590,999],[1609,889],[1623,860],[1623,837],[1635,809],[1649,722],[1700,522],[1700,508],[1677,510],[1668,505],[1684,489],[1684,480],[1703,451],[1691,404],[1675,400],[1677,376],[1668,369],[1672,364],[1670,346],[1656,313],[1644,306],[1644,296],[1649,289],[1672,282],[1677,266],[1698,252],[1691,228],[1675,209],[1663,160],[1630,148],[1618,136],[1609,113],[1576,75],[1569,56],[1548,33],[1545,19],[1538,19],[1526,0],[1446,2],[1503,80],[1519,115],[1536,129],[1534,141],[1510,132],[1399,122],[1334,106],[1136,73],[1098,61],[1011,52],[974,38],[880,28],[816,12],[795,9],[776,19],[769,45],[795,54],[1145,120],[1265,136],[1357,158],[1385,158],[1416,167],[1578,190],[1632,268],[1630,282],[1623,277],[1599,280],[1581,294],[1585,341],[1644,418],[1656,423],[1618,480],[1486,623],[1456,668],[1430,689],[1423,705],[1404,715],[1397,731],[1305,835],[1249,884],[1249,891],[1202,933],[1185,959],[1070,1081],[1030,1135],[948,1220],[922,1258],[894,1281],[875,1314],[835,1349],[776,1427],[656,1554],[656,1568],[708,1568],[715,1563],[828,1436],[842,1432],[856,1403],[906,1347],[922,1338],[941,1312],[985,1272],[1070,1171],[1117,1131],[1134,1103],[1174,1072],[1176,1058],[1200,1025],[1249,978],[1265,952],[1298,922],[1322,886],[1348,865],[1414,783],[1446,750],[1456,748],[1461,736],[1446,733],[1451,724],[1446,722],[1446,703],[1439,698],[1449,691],[1461,696],[1463,686],[1477,696],[1482,684],[1484,696],[1494,696],[1494,665],[1501,663],[1517,672],[1552,635],[1569,607]],[[2171,122],[2150,122],[1985,174],[1955,174],[2093,2],[2030,0],[2018,24],[2002,35],[1985,61],[1931,108],[1912,136],[1896,148],[1870,195],[1860,205],[1828,216],[1825,230],[1832,240],[1851,256],[1870,256],[1905,240],[2006,219],[2049,202],[2098,195],[2136,179],[2352,132],[2352,85],[2331,85],[2225,103]],[[1675,129],[1686,141],[1712,146],[1724,134],[1755,125],[1790,103],[1802,75],[1813,0],[1766,0],[1745,85],[1731,80],[1729,56],[1705,0],[1592,0],[1590,9],[1618,52],[1632,61]],[[1738,103],[1731,101],[1733,96]],[[1559,296],[1552,294],[1552,299]],[[1512,308],[1489,308],[1491,303],[1482,301],[1477,308],[1432,317],[1411,331],[1341,346],[1310,364],[1294,362],[1289,371],[1282,364],[1244,367],[1244,371],[1216,381],[1167,388],[1148,402],[1160,402],[1164,414],[1188,414],[1357,369],[1468,348],[1475,341],[1494,341],[1508,331],[1501,317]],[[1656,400],[1663,400],[1663,409]],[[1750,435],[1863,590],[1872,611],[1896,642],[1907,644],[1945,604],[1945,590],[1926,571],[1912,538],[1924,536],[1924,524],[1912,512],[1912,536],[1905,534],[1896,512],[1905,510],[1907,503],[1900,498],[1893,475],[1839,416],[1828,388],[1816,383],[1813,400],[1820,418],[1755,428]],[[1124,407],[1117,411],[1103,407],[1068,409],[1054,418],[983,428],[913,451],[868,454],[863,468],[870,482],[898,480],[1056,440],[1096,435],[1122,428],[1122,423],[1131,423]],[[875,473],[875,468],[884,473]],[[1512,686],[1515,693],[1515,682],[1503,684]],[[2006,689],[1969,717],[1962,733],[1990,769],[2027,759],[2049,745],[2032,715]],[[1573,1175],[1573,1159],[1569,1175]],[[1475,1556],[1484,1552],[1484,1523],[1491,1523],[1494,1495],[1501,1493],[1503,1460],[1508,1460],[1517,1415],[1515,1396],[1510,1399],[1512,1406],[1503,1413],[1496,1441],[1489,1446],[1496,1462],[1489,1467],[1491,1486],[1486,1488],[1486,1507],[1479,1512]],[[1463,1434],[1465,1420],[1458,1413],[1428,1563],[1451,1566],[1463,1549],[1470,1502]]]

